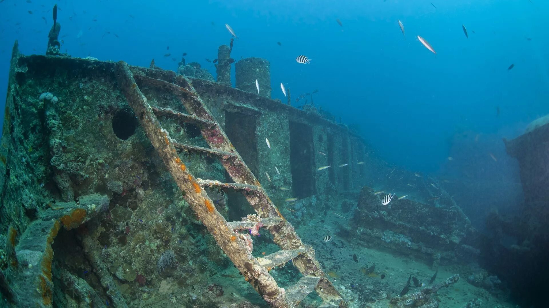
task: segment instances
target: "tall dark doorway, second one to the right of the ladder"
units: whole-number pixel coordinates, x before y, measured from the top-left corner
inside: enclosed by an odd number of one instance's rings
[[[301,199],[316,193],[313,151],[312,128],[307,124],[290,122],[290,169],[292,170],[293,197]]]

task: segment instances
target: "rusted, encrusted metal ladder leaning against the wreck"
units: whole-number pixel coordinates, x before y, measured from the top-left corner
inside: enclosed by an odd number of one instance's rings
[[[188,79],[170,71],[140,71],[137,68],[130,68],[123,61],[117,64],[116,76],[128,104],[135,112],[177,186],[183,192],[184,198],[214,236],[217,244],[245,277],[245,280],[262,298],[273,307],[295,307],[314,289],[323,300],[320,307],[346,307],[345,301],[326,278],[320,264],[315,259],[315,251],[312,247],[301,242],[294,227],[283,218],[271,202],[259,181],[234,149],[219,123],[211,116],[210,111]],[[190,114],[149,105],[138,84],[141,87],[153,87],[173,93],[181,100]],[[197,125],[210,149],[181,144],[172,140],[166,130],[161,127],[157,116]],[[234,183],[194,178],[181,162],[178,152],[199,153],[216,157]],[[243,221],[227,222],[217,212],[214,203],[204,191],[204,187],[242,192],[257,215],[248,215],[248,218],[244,218]],[[248,232],[239,232],[240,230],[248,231],[254,227],[266,227],[272,233],[273,241],[282,250],[264,258],[254,258],[251,254],[252,237]],[[278,287],[269,271],[290,260],[303,277],[294,286],[284,290]]]

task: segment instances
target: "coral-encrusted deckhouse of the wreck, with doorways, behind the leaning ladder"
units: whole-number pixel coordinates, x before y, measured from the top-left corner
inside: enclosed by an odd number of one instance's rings
[[[58,33],[58,24],[54,27]],[[361,187],[368,151],[361,138],[315,107],[303,111],[270,99],[265,60],[239,61],[241,89],[231,88],[232,62],[227,48],[220,47],[220,53],[225,54],[218,66],[221,82],[191,77],[192,85],[284,215],[297,220],[305,208],[322,213],[341,193]],[[180,64],[181,72],[204,73]],[[223,279],[237,278],[237,284],[220,286],[220,277],[212,277],[232,269],[230,261],[139,126],[116,81],[115,65],[24,56],[14,46],[0,146],[3,300],[21,307],[263,304],[236,269],[231,274],[236,276]],[[133,69],[175,74],[154,63]],[[245,76],[253,79],[244,81]],[[154,105],[186,111],[173,94],[141,90]],[[192,123],[167,119],[163,127],[170,138],[208,146]],[[181,161],[197,178],[231,182],[211,156]],[[334,168],[340,164],[349,166]],[[318,170],[322,166],[332,167]],[[253,213],[242,193],[211,189],[208,195],[227,220]],[[300,199],[302,212],[286,209],[293,197]]]

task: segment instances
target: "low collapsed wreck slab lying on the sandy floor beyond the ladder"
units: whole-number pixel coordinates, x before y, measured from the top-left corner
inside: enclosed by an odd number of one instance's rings
[[[433,207],[410,199],[382,206],[384,194],[364,187],[351,220],[351,236],[366,247],[424,259],[433,269],[443,263],[474,260],[475,230],[460,207],[445,196]]]

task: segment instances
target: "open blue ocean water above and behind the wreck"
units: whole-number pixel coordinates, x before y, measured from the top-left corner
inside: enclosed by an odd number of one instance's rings
[[[170,70],[177,70],[187,53],[187,62],[199,62],[214,76],[206,59],[215,59],[217,47],[229,43],[229,24],[239,37],[234,59],[270,62],[273,98],[284,99],[281,82],[294,98],[318,89],[316,106],[358,125],[384,161],[460,182],[452,193],[473,217],[488,207],[476,206],[468,197],[473,193],[488,193],[499,207],[506,202],[511,207],[519,198],[516,162],[501,138],[522,134],[529,122],[549,112],[549,3],[528,0],[439,1],[433,2],[436,8],[417,0],[5,0],[0,3],[0,97],[6,94],[16,39],[22,53],[44,54],[55,3],[62,52],[139,66],[154,58]],[[296,62],[298,55],[311,64]],[[514,197],[504,193],[509,191]]]

